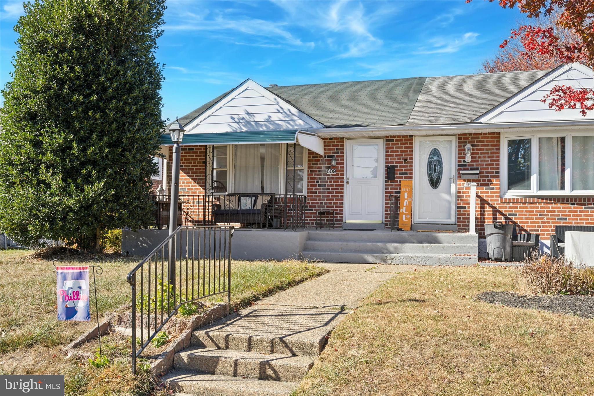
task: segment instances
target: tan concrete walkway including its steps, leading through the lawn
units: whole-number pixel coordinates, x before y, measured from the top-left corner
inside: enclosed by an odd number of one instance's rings
[[[327,335],[361,300],[414,265],[318,264],[330,270],[201,328],[162,377],[192,395],[288,395]]]

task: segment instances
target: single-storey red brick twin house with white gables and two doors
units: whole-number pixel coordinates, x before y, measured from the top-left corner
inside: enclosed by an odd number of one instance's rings
[[[594,113],[549,109],[541,99],[557,84],[594,88],[594,74],[571,64],[285,87],[246,80],[179,119],[180,194],[195,197],[187,222],[213,216],[209,196],[225,207],[220,197],[294,193],[307,197],[301,226],[328,210],[339,228],[383,229],[390,195],[412,180],[413,230],[469,232],[476,183],[480,239],[501,220],[539,233],[546,251],[555,224],[594,225]],[[169,192],[168,136],[162,143]]]

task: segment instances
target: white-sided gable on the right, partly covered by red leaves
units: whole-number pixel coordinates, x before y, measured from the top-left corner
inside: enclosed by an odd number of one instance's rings
[[[565,65],[530,84],[476,121],[490,123],[594,119],[594,112],[589,112],[584,117],[580,109],[563,109],[557,112],[549,109],[548,102],[542,103],[541,99],[555,85],[594,88],[594,74],[592,69],[582,64]]]

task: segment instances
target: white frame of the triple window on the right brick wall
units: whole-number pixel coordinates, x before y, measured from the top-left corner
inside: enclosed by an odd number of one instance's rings
[[[517,197],[569,197],[569,196],[594,196],[594,190],[573,190],[571,189],[571,168],[572,163],[572,142],[573,136],[594,136],[594,132],[564,132],[564,131],[546,131],[546,132],[502,132],[500,139],[500,196],[501,198]],[[538,157],[539,157],[539,138],[544,137],[565,137],[565,189],[554,191],[541,191],[538,189]],[[507,180],[507,142],[509,140],[530,138],[532,140],[532,176],[530,178],[530,190],[520,191],[508,190]],[[594,166],[594,164],[593,164]]]

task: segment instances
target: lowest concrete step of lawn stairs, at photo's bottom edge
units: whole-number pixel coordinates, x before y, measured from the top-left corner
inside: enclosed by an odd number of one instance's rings
[[[299,385],[178,370],[162,376],[161,381],[173,391],[194,396],[289,395]]]

